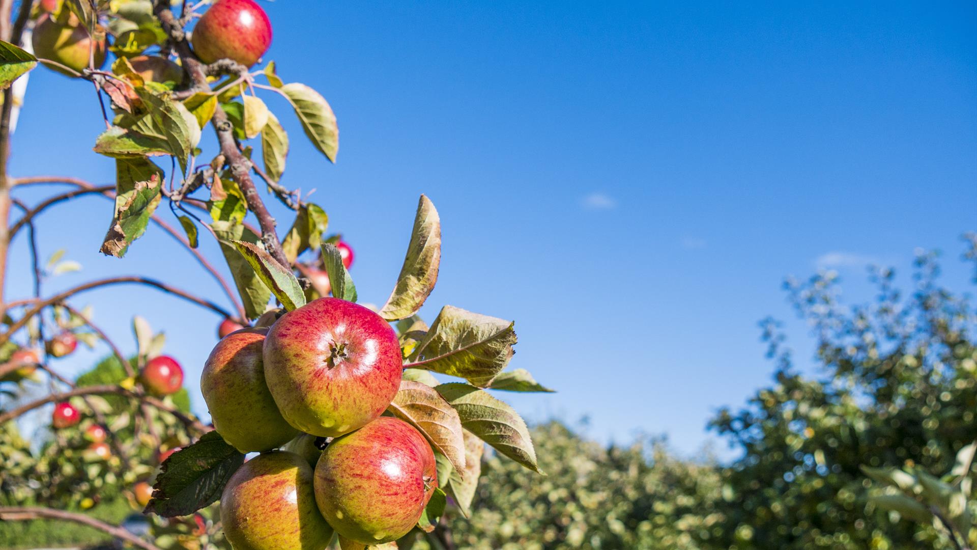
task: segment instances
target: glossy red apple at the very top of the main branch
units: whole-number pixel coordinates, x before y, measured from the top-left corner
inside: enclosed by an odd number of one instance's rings
[[[229,58],[251,67],[272,45],[272,23],[253,0],[217,0],[193,27],[191,43],[204,63]]]

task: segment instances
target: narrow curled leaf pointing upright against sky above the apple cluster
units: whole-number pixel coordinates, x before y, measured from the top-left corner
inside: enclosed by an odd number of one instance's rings
[[[421,195],[401,275],[380,316],[394,321],[417,313],[438,282],[440,263],[441,217],[431,200]]]

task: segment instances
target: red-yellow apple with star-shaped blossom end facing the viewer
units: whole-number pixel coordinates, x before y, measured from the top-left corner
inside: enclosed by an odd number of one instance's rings
[[[336,437],[380,416],[401,386],[401,347],[382,317],[319,298],[285,313],[265,340],[265,381],[288,424]]]

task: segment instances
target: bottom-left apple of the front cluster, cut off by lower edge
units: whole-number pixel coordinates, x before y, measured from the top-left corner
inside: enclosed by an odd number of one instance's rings
[[[274,451],[234,472],[221,495],[221,525],[234,550],[320,550],[332,527],[319,515],[312,467]]]

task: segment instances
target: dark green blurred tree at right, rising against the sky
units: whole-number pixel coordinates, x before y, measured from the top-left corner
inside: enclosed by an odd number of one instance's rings
[[[939,274],[937,254],[920,253],[904,297],[892,270],[874,269],[877,298],[850,308],[832,272],[786,283],[815,331],[820,368],[799,373],[779,325],[762,323],[776,384],[712,422],[743,451],[724,475],[732,494],[719,547],[946,547],[934,528],[898,522],[872,503],[861,471],[940,475],[977,436],[974,310]]]

